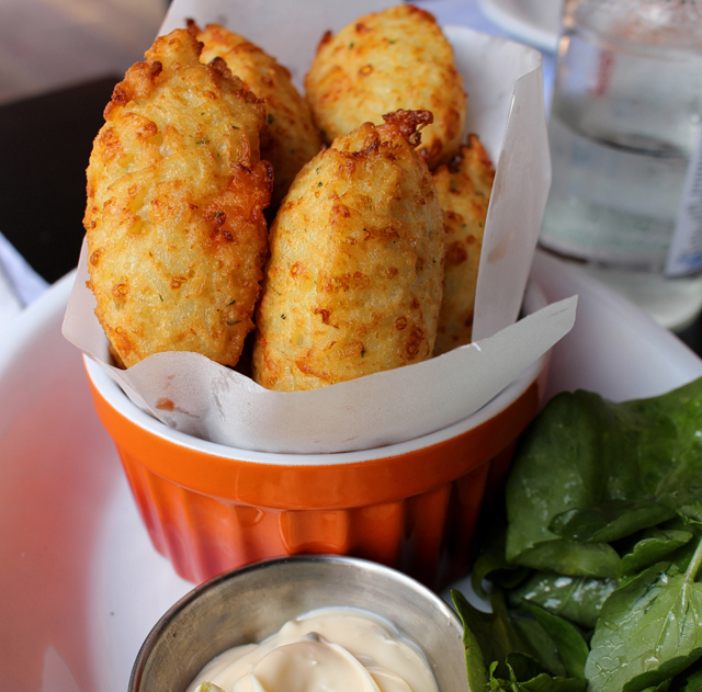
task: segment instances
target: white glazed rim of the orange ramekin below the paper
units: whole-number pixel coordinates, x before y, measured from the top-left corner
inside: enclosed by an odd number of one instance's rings
[[[546,304],[546,299],[541,290],[531,282],[524,296],[524,313],[532,314],[541,309]],[[449,426],[443,430],[432,432],[414,440],[389,444],[383,447],[371,450],[362,450],[359,452],[340,452],[336,454],[278,454],[269,452],[253,452],[250,450],[241,450],[229,447],[214,442],[207,442],[192,435],[185,434],[178,430],[168,428],[162,422],[145,413],[135,406],[129,398],[122,392],[120,386],[95,363],[83,356],[88,376],[112,408],[118,413],[129,419],[144,430],[159,438],[169,440],[170,442],[184,446],[186,449],[204,452],[224,458],[238,460],[242,462],[254,462],[258,464],[273,465],[307,465],[322,466],[329,464],[355,464],[370,460],[386,458],[398,456],[422,450],[434,444],[439,444],[444,440],[455,438],[473,428],[477,428],[482,423],[490,420],[499,412],[511,406],[519,397],[526,392],[530,385],[536,379],[541,371],[546,365],[548,353],[542,355],[532,365],[530,365],[519,377],[512,381],[500,394],[488,401],[482,409],[469,416],[468,418]]]

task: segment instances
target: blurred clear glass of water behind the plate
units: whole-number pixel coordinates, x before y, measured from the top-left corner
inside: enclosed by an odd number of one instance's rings
[[[566,0],[563,24],[541,243],[683,328],[702,309],[702,7]]]

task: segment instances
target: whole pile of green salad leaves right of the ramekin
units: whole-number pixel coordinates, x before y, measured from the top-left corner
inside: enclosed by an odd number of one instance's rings
[[[472,692],[702,692],[702,379],[555,397],[460,593]]]

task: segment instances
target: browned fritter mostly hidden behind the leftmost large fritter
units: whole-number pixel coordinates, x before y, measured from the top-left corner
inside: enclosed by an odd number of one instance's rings
[[[265,103],[268,128],[261,135],[261,158],[273,166],[271,208],[276,209],[297,171],[321,149],[309,104],[293,86],[290,70],[242,36],[218,24],[208,24],[204,31],[192,21],[188,26],[205,44],[203,63],[219,56]]]

